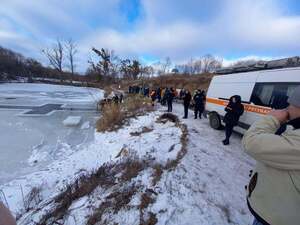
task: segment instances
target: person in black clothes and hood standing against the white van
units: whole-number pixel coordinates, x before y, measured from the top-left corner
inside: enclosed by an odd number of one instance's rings
[[[242,99],[239,95],[234,95],[229,99],[229,103],[225,108],[226,114],[224,116],[225,123],[225,135],[223,140],[224,145],[229,145],[229,138],[233,132],[233,127],[238,125],[240,116],[244,113],[244,106],[242,105]]]

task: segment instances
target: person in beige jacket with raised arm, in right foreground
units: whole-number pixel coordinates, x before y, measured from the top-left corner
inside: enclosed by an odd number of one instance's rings
[[[300,224],[300,86],[288,103],[254,123],[242,140],[257,161],[246,187],[254,225]]]

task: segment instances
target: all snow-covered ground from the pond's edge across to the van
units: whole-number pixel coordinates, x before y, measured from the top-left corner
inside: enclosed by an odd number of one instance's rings
[[[41,171],[0,186],[15,214],[24,212],[22,195],[26,196],[33,187],[41,187],[42,202],[36,207],[42,210],[25,214],[19,224],[34,224],[51,211],[54,203],[49,202],[67,184],[104,163],[117,162],[122,149],[126,150],[124,157],[135,154],[140,159],[151,158],[160,165],[174,160],[182,150],[182,130],[171,122],[156,122],[164,111],[159,108],[132,119],[129,126],[117,132],[96,133],[93,142],[68,157],[58,158]],[[181,105],[174,106],[174,114],[179,118],[182,111]],[[117,188],[124,189],[126,185],[139,189],[126,207],[117,211],[109,211],[107,207],[101,217],[105,224],[140,224],[144,214],[150,212],[156,215],[157,224],[250,224],[244,186],[254,162],[244,154],[241,137],[234,134],[231,145],[223,146],[223,132],[212,130],[206,119],[194,120],[190,112],[190,118],[181,122],[187,125],[189,132],[187,153],[175,168],[163,171],[157,183],[152,182],[153,168],[145,168],[128,183],[120,183],[111,189],[95,189],[71,204],[64,224],[86,224],[99,205],[111,199]],[[146,132],[142,132],[145,127]],[[142,193],[149,190],[155,193],[150,193],[154,201],[141,210]]]

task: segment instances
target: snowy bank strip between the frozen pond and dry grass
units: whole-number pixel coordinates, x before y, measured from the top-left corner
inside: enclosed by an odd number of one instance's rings
[[[118,132],[98,133],[93,144],[67,159],[57,160],[43,171],[3,185],[1,189],[6,194],[10,209],[14,213],[24,210],[22,191],[26,195],[33,187],[41,186],[43,199],[49,199],[82,173],[93,171],[105,162],[117,160],[116,156],[122,149],[136,152],[140,157],[154,157],[158,163],[166,163],[169,159],[176,158],[181,148],[181,131],[169,122],[156,123],[158,115],[159,113],[151,113],[139,117],[138,120],[132,120],[130,127]],[[148,132],[143,133],[143,138],[136,135],[143,132],[142,127],[149,128]]]

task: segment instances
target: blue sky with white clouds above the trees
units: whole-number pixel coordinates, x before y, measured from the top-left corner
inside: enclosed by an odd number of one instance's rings
[[[74,39],[78,70],[91,47],[121,57],[225,64],[299,55],[298,0],[0,0],[0,45],[46,63],[41,49]]]

